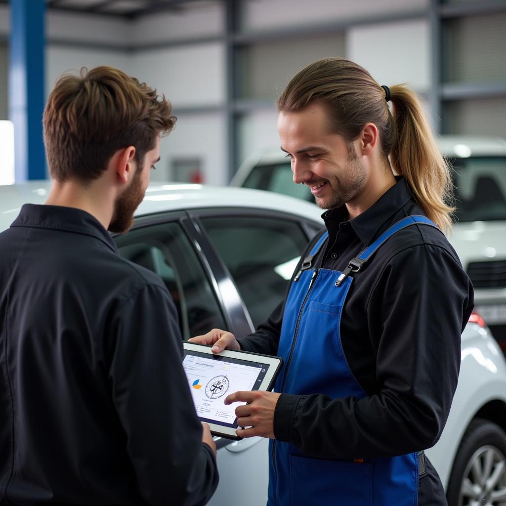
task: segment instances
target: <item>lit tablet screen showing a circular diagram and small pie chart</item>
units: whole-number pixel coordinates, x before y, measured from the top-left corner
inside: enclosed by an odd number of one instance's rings
[[[235,409],[245,402],[226,406],[230,394],[259,390],[271,364],[185,350],[183,368],[198,417],[207,423],[237,428]]]

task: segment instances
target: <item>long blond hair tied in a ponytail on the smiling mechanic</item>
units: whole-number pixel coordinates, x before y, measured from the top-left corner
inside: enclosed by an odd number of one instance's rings
[[[383,156],[403,175],[418,205],[442,230],[451,225],[450,169],[440,155],[420,101],[404,85],[390,87],[393,114],[385,90],[360,65],[344,58],[311,63],[286,85],[279,111],[301,110],[320,101],[328,112],[329,129],[349,142],[367,122],[376,125]]]

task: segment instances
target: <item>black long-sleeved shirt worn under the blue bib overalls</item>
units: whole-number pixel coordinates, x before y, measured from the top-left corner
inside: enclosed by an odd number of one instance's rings
[[[346,207],[329,210],[323,214],[328,246],[314,265],[342,271],[390,226],[423,214],[403,178],[353,220]],[[460,334],[474,306],[470,280],[443,234],[424,225],[395,234],[351,275],[341,340],[367,397],[281,394],[275,437],[327,458],[429,448],[441,435],[457,385]],[[241,348],[275,355],[283,308],[284,302],[240,339]]]

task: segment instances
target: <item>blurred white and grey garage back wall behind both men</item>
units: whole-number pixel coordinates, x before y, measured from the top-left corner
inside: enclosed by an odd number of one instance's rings
[[[308,8],[306,0],[236,0],[235,28],[226,26],[222,0],[191,2],[134,21],[51,11],[46,96],[61,73],[82,66],[116,66],[156,87],[172,101],[179,121],[162,141],[154,179],[173,179],[175,167],[195,162],[204,182],[227,183],[230,160],[236,167],[252,153],[278,145],[277,95],[294,73],[326,56],[360,63],[380,84],[407,82],[442,133],[506,137],[500,114],[506,74],[498,49],[506,47],[506,5],[504,12],[473,16],[443,12],[471,4],[480,3],[450,6],[441,0],[435,8],[429,0],[312,0]],[[438,47],[435,13],[444,30]],[[8,33],[9,8],[0,5],[0,114]],[[440,76],[433,75],[435,50],[444,64]],[[232,91],[227,90],[231,62]],[[438,103],[440,110],[434,109]]]

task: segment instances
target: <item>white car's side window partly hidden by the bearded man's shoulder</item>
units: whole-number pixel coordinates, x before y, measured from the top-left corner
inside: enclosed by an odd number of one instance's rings
[[[115,241],[122,257],[162,278],[176,304],[183,339],[226,328],[214,290],[178,223],[134,229]]]

